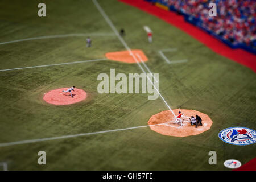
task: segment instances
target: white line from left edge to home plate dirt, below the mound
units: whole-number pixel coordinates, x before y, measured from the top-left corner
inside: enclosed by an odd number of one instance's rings
[[[49,140],[65,139],[65,138],[72,138],[72,137],[82,137],[82,136],[86,136],[86,135],[109,133],[109,132],[114,132],[114,131],[132,130],[132,129],[139,129],[139,128],[143,128],[143,127],[158,126],[158,125],[164,125],[164,123],[156,124],[156,125],[127,127],[125,129],[96,131],[96,132],[91,132],[91,133],[81,133],[81,134],[75,134],[75,135],[64,135],[64,136],[60,136],[60,137],[49,137],[49,138],[40,138],[40,139],[32,139],[32,140],[22,140],[22,141],[17,141],[17,142],[0,143],[0,147],[14,146],[14,145],[26,144],[26,143],[44,142],[44,141],[49,141]]]

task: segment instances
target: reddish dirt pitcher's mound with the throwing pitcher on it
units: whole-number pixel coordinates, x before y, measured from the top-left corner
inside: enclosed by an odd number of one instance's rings
[[[84,90],[75,88],[75,91],[71,91],[73,95],[72,98],[69,92],[62,92],[62,90],[68,89],[69,88],[51,90],[50,92],[44,94],[43,100],[48,102],[49,104],[54,105],[69,105],[85,100],[86,92],[84,92]]]

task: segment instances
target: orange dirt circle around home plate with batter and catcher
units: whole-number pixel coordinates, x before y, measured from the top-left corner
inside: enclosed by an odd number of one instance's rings
[[[177,116],[179,114],[179,110],[173,110],[174,114]],[[150,125],[150,129],[160,133],[162,135],[174,136],[174,137],[187,137],[191,135],[199,135],[204,131],[207,131],[212,126],[212,119],[209,118],[207,114],[200,113],[196,110],[185,110],[181,109],[183,116],[181,119],[183,120],[183,126],[180,126],[180,123],[174,123],[176,118],[171,113],[170,110],[164,110],[158,114],[152,115],[152,117],[147,122]],[[203,126],[199,124],[196,128],[195,125],[191,126],[189,122],[189,118],[193,115],[194,117],[199,115],[202,119]]]

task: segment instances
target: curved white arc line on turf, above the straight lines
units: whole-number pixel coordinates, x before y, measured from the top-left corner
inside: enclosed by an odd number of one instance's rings
[[[76,36],[115,36],[115,34],[113,34],[113,33],[88,33],[88,34],[48,35],[48,36],[38,36],[35,38],[27,38],[27,39],[19,39],[19,40],[12,40],[12,41],[8,41],[8,42],[2,42],[2,43],[0,43],[0,45],[16,43],[16,42],[23,42],[23,41],[28,41],[28,40],[68,38],[68,37],[76,37]]]

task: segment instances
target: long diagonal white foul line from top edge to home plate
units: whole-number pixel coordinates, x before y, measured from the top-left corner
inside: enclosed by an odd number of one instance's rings
[[[123,38],[119,35],[117,28],[115,28],[114,24],[112,23],[112,21],[109,19],[108,15],[106,15],[105,11],[102,9],[102,7],[100,6],[100,4],[97,2],[97,0],[92,0],[94,5],[97,7],[98,11],[100,11],[101,15],[103,16],[103,18],[106,20],[106,22],[109,24],[109,26],[112,28],[112,30],[114,31],[115,35],[118,37],[118,39],[120,40],[120,42],[123,44],[123,46],[127,49],[127,51],[129,51],[130,55],[133,57],[133,59],[136,61],[136,63],[138,64],[139,68],[141,68],[143,73],[146,73],[144,71],[144,69],[142,68],[141,64],[139,64],[139,61],[137,60],[137,58],[135,57],[134,53],[131,51],[130,47],[126,44],[125,40],[123,40]],[[148,77],[147,77],[148,78]],[[151,82],[150,78],[148,78],[148,80]],[[162,94],[159,93],[159,90],[155,87],[155,85],[151,82],[151,84],[154,86],[156,92],[158,92],[159,96],[162,98],[162,100],[164,101],[164,104],[166,104],[166,106],[168,107],[168,109],[172,112],[172,114],[175,116],[174,111],[172,111],[171,107],[167,104],[166,100],[164,100]]]

